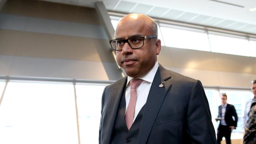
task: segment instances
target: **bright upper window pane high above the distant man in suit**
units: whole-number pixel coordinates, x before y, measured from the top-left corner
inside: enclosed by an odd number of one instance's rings
[[[211,52],[250,56],[249,42],[245,37],[236,38],[217,34],[209,34]]]

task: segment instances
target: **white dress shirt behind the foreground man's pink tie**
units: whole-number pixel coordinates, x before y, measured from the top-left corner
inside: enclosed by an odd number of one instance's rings
[[[155,65],[153,66],[153,68],[147,74],[145,74],[142,77],[139,77],[139,79],[142,79],[143,81],[136,89],[137,101],[136,101],[136,106],[135,106],[134,120],[137,117],[137,115],[138,115],[139,111],[141,110],[141,108],[143,107],[143,105],[145,105],[145,103],[147,102],[148,93],[149,93],[150,87],[152,85],[153,79],[156,75],[158,66],[159,66],[158,62],[156,62]],[[130,80],[132,80],[132,79],[134,79],[134,78],[132,78],[130,76],[128,76],[128,78],[127,78],[126,92],[125,92],[125,101],[126,101],[125,113],[127,111],[129,101],[130,101],[130,94],[131,94]],[[133,122],[134,122],[134,120],[133,120]]]

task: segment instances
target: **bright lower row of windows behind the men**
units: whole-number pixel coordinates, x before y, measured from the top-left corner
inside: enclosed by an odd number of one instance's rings
[[[0,90],[4,85],[5,82],[0,83]],[[97,144],[101,98],[106,85],[8,82],[0,105],[0,143],[78,144],[80,141],[80,144]],[[214,118],[221,105],[220,94],[226,93],[227,102],[235,106],[238,115],[232,139],[242,138],[245,103],[253,96],[250,90],[206,88],[205,93],[215,131],[219,126]]]

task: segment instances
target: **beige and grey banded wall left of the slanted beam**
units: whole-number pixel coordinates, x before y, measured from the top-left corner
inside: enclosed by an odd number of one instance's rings
[[[0,76],[117,80],[96,10],[7,0],[0,13]]]

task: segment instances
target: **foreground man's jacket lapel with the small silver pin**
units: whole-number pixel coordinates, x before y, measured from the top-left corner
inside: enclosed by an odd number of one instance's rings
[[[161,84],[163,84],[163,87],[161,87]],[[139,130],[137,144],[145,144],[147,142],[160,107],[170,87],[170,73],[159,65],[148,94],[145,110],[141,120],[141,128]]]

